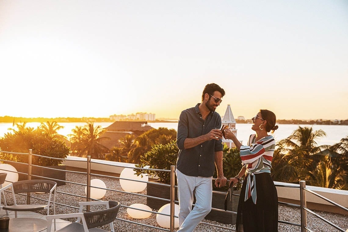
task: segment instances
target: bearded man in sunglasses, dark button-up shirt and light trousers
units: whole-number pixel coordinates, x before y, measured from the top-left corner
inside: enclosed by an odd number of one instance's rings
[[[222,171],[221,117],[215,112],[225,91],[211,83],[205,86],[202,102],[181,112],[177,128],[179,154],[176,177],[179,198],[179,230],[192,232],[212,208],[212,178],[215,186],[226,185]],[[196,197],[192,209],[193,194]],[[192,209],[192,210],[191,210]]]

